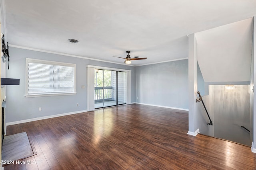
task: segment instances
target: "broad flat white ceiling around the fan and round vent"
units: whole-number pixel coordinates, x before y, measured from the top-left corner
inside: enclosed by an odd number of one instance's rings
[[[1,0],[10,46],[142,65],[188,57],[190,33],[256,15],[256,0]],[[5,12],[4,12],[5,11]],[[70,43],[77,39],[79,43]]]

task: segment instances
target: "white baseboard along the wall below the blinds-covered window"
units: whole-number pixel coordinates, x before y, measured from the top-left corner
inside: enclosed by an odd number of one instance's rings
[[[69,112],[69,113],[62,113],[62,114],[58,114],[58,115],[49,115],[49,116],[36,117],[36,118],[25,119],[25,120],[20,120],[20,121],[6,122],[6,126],[16,125],[16,124],[20,124],[20,123],[27,123],[27,122],[30,122],[30,121],[37,121],[37,120],[42,120],[42,119],[49,119],[49,118],[53,118],[53,117],[60,117],[60,116],[77,114],[77,113],[83,113],[83,112],[87,112],[87,111],[88,110],[81,110],[81,111],[74,111],[74,112]]]

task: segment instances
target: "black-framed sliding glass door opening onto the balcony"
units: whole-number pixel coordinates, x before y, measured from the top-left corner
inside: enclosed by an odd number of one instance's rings
[[[126,104],[126,72],[94,70],[94,108]]]

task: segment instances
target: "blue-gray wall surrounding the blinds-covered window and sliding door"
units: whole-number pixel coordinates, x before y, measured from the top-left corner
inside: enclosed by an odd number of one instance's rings
[[[6,86],[6,122],[20,121],[49,115],[86,110],[86,65],[96,65],[132,70],[131,102],[136,102],[135,68],[121,64],[80,59],[51,53],[43,53],[10,47],[10,70],[6,69],[6,78],[20,78],[19,86]],[[25,59],[42,59],[76,64],[76,95],[26,98],[25,95]],[[76,106],[76,103],[79,106]],[[38,111],[42,107],[42,111]]]

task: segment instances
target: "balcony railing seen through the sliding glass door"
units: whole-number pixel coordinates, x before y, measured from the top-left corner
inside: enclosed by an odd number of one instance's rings
[[[103,101],[103,94],[104,94],[104,100],[113,100],[113,87],[108,86],[104,87],[104,93],[103,93],[103,87],[94,87],[94,100],[95,102],[102,102]]]

